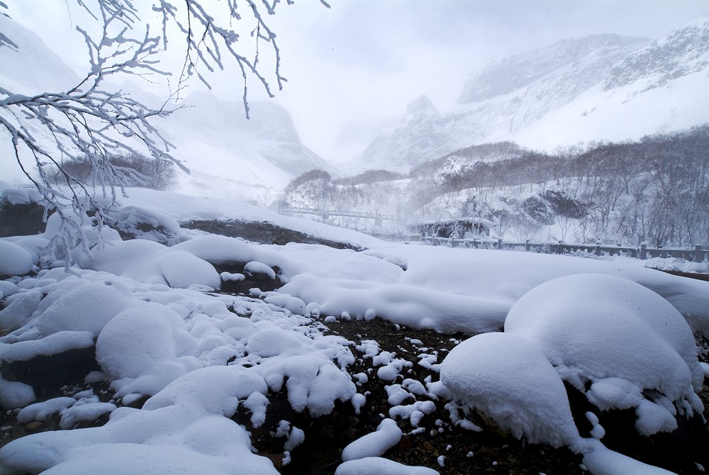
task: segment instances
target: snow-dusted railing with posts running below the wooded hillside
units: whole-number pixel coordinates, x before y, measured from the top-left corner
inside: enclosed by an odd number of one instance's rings
[[[684,249],[679,247],[648,247],[645,244],[636,247],[627,247],[608,244],[578,244],[563,241],[515,242],[491,238],[452,239],[427,236],[421,238],[421,240],[434,246],[467,247],[469,249],[518,250],[543,254],[586,252],[596,256],[619,255],[635,257],[637,259],[676,257],[691,262],[709,262],[709,247],[702,247],[701,245],[696,245],[693,249]]]

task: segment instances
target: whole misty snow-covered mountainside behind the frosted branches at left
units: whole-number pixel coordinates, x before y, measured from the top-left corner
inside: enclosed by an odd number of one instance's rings
[[[0,84],[13,94],[66,91],[79,82],[77,74],[38,35],[0,15],[0,32],[13,45],[0,47]],[[162,105],[133,80],[111,87],[130,91],[144,104]],[[269,101],[250,103],[251,120],[242,101],[196,91],[177,104],[177,111],[156,120],[170,143],[172,155],[190,175],[179,172],[180,191],[200,196],[252,200],[267,189],[281,189],[293,177],[325,161],[303,145],[286,109]],[[9,135],[0,135],[0,165],[5,181],[24,181],[10,153]],[[5,146],[7,145],[7,146]]]

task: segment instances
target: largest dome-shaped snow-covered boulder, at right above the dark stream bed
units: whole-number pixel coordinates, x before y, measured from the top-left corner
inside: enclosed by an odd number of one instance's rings
[[[537,345],[599,409],[635,407],[642,434],[673,430],[678,412],[703,410],[695,393],[703,371],[689,325],[633,281],[600,274],[547,281],[513,305],[505,331]]]

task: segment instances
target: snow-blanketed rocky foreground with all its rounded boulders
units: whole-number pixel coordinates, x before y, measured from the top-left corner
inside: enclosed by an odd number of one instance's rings
[[[709,333],[709,282],[623,260],[393,244],[226,201],[130,196],[115,225],[138,239],[104,230],[105,247],[77,254],[72,273],[62,262],[37,267],[52,218],[42,235],[0,240],[0,406],[21,423],[58,418],[65,429],[4,445],[3,473],[278,473],[306,427],[284,419],[269,430],[282,447],[275,458],[255,453],[252,435],[283,401],[293,418],[345,407],[377,418],[342,450],[337,474],[464,471],[445,454],[416,469],[386,454],[421,432],[491,426],[566,447],[592,474],[667,473],[603,445],[609,411],[634,415],[644,437],[698,419],[706,432],[698,393],[708,367],[695,335]],[[178,225],[194,219],[266,222],[364,250]],[[230,293],[240,282],[260,289]],[[410,337],[393,351],[333,331],[375,318],[455,334],[455,346]],[[21,371],[82,350],[99,366],[79,383],[101,390],[52,393]],[[410,377],[418,367],[423,380]],[[372,381],[386,391],[380,412],[368,407],[379,404]],[[588,406],[585,420],[569,391]],[[686,462],[698,470],[706,461],[696,457]]]

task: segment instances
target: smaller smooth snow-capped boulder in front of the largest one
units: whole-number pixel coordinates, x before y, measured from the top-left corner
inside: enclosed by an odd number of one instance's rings
[[[456,398],[515,437],[554,447],[580,439],[562,379],[544,354],[522,337],[471,337],[445,357],[440,376]]]

